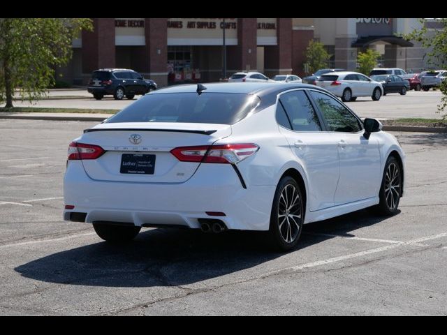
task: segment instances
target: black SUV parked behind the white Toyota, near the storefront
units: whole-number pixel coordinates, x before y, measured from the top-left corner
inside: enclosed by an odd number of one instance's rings
[[[153,80],[145,79],[140,73],[126,68],[103,68],[91,74],[87,91],[96,100],[106,95],[112,95],[115,100],[122,100],[124,96],[133,99],[135,94],[147,94],[156,89]]]

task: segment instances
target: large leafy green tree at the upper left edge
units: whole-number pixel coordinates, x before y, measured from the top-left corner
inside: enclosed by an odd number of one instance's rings
[[[93,29],[90,19],[0,18],[0,103],[13,107],[16,89],[22,100],[43,96],[82,29]]]

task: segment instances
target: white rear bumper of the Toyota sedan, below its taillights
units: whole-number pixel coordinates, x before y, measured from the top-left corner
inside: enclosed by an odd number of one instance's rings
[[[86,214],[85,222],[182,225],[200,228],[199,218],[221,220],[228,229],[268,230],[275,186],[243,188],[231,165],[202,164],[184,183],[96,181],[70,161],[64,177],[64,220]],[[210,216],[215,211],[225,216]]]

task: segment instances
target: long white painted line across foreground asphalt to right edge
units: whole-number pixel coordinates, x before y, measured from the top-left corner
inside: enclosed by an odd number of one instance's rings
[[[405,244],[391,244],[389,246],[382,246],[380,248],[374,248],[374,249],[369,249],[366,251],[360,251],[358,253],[351,253],[349,255],[343,255],[343,256],[339,256],[339,257],[334,257],[334,258],[328,258],[326,260],[317,260],[316,262],[310,262],[310,263],[306,263],[306,264],[302,264],[302,265],[296,265],[294,267],[285,267],[284,269],[279,269],[279,270],[275,270],[275,271],[270,271],[267,272],[265,274],[262,274],[261,276],[258,276],[257,278],[263,278],[266,276],[270,276],[272,274],[277,274],[279,272],[282,271],[298,271],[301,269],[309,269],[310,267],[318,267],[320,265],[326,265],[326,264],[330,264],[333,262],[340,262],[342,260],[349,260],[351,258],[358,258],[358,257],[362,257],[364,255],[369,255],[372,253],[380,253],[382,251],[387,251],[393,248],[398,248],[400,246],[404,246],[404,245],[412,245],[412,246],[416,246],[418,242],[421,241],[430,241],[431,239],[439,239],[441,237],[446,237],[447,236],[447,232],[443,232],[441,234],[437,234],[437,235],[433,235],[433,236],[428,236],[428,237],[421,237],[420,239],[412,239],[410,241],[406,241]]]

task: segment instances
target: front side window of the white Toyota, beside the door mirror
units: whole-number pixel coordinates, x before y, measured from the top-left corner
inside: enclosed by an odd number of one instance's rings
[[[362,130],[358,119],[335,98],[317,91],[311,91],[311,94],[323,114],[328,131],[357,133]]]

